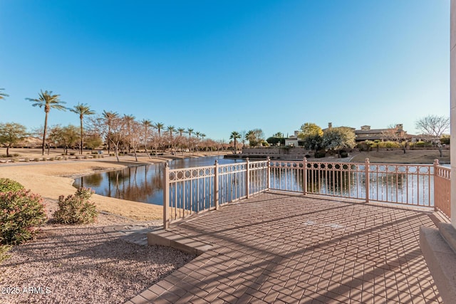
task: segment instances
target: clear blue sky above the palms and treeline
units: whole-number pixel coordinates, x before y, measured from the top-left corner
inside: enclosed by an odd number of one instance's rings
[[[30,129],[40,90],[226,141],[450,115],[450,0],[0,0],[0,41],[0,122]]]

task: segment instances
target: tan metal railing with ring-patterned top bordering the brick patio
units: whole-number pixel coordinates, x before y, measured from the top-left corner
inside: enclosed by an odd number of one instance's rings
[[[165,167],[163,224],[266,190],[434,207],[450,217],[450,170],[429,164],[266,160]]]

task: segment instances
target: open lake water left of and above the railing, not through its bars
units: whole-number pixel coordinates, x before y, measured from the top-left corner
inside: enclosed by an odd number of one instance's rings
[[[175,159],[169,162],[171,169],[202,167],[214,164],[233,164],[242,159],[224,159],[223,156]],[[73,186],[92,188],[96,194],[141,201],[148,204],[163,204],[163,171],[165,164],[147,164],[121,170],[100,172],[75,180]]]

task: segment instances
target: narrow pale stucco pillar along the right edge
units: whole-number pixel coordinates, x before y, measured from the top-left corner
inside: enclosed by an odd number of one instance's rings
[[[456,228],[456,0],[450,9],[451,224]]]

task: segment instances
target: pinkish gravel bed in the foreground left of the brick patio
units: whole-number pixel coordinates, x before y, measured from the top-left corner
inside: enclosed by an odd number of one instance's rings
[[[0,265],[0,303],[124,303],[195,258],[103,232],[118,224],[138,222],[100,214],[93,225],[43,226]]]

